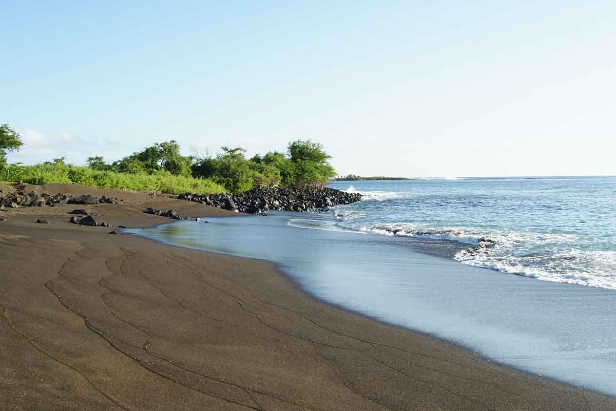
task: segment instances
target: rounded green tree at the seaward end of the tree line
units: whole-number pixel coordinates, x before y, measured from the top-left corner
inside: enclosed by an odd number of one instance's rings
[[[325,153],[321,143],[310,140],[296,140],[287,148],[289,159],[294,164],[295,183],[326,183],[336,172],[328,160],[331,156]]]

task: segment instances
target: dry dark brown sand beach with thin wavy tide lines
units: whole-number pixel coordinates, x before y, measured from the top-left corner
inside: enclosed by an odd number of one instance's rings
[[[124,197],[86,208],[128,226],[168,221],[146,206],[226,213]],[[315,301],[271,263],[71,225],[73,208],[0,221],[0,410],[616,409]]]

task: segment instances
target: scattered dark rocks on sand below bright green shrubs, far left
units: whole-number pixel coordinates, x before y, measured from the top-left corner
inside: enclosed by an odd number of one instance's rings
[[[0,207],[3,209],[19,207],[43,207],[43,206],[55,206],[56,204],[118,204],[120,202],[117,198],[108,198],[105,196],[96,197],[90,194],[84,194],[83,196],[73,197],[67,194],[39,194],[36,191],[30,191],[30,193],[23,193],[22,191],[16,191],[15,193],[1,193],[0,192]]]

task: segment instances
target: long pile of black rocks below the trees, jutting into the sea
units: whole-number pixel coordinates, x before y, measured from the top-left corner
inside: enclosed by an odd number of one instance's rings
[[[177,198],[225,210],[259,214],[267,210],[325,210],[328,207],[360,201],[362,195],[327,187],[304,186],[253,188],[238,194],[180,194]]]

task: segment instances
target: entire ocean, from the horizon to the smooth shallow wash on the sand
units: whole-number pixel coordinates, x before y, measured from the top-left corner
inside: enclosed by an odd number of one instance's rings
[[[616,395],[615,177],[331,187],[363,201],[128,232],[274,261],[320,300]]]

